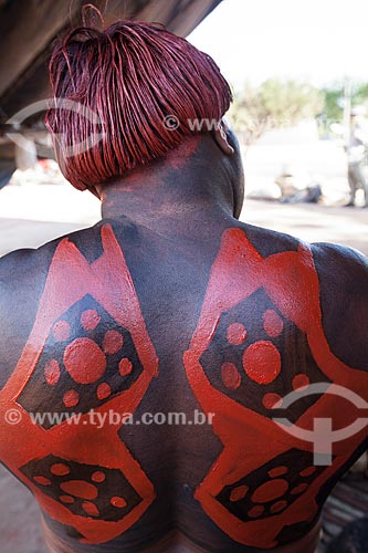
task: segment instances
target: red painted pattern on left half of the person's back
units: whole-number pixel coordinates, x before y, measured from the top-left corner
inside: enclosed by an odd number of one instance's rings
[[[56,343],[70,336],[69,323],[55,324],[55,321],[86,294],[92,295],[118,325],[127,328],[143,366],[143,372],[132,386],[112,397],[108,385],[99,384],[96,400],[103,403],[95,411],[102,415],[109,409],[134,413],[151,379],[158,375],[157,355],[145,326],[134,283],[108,225],[102,228],[102,243],[103,254],[88,264],[67,239],[60,242],[31,335],[13,374],[0,392],[0,437],[1,444],[6,445],[0,450],[1,461],[31,489],[49,517],[75,528],[84,536],[81,541],[85,543],[106,542],[130,528],[154,501],[154,486],[118,436],[123,422],[120,426],[104,425],[98,428],[88,424],[87,414],[82,414],[78,425],[64,421],[45,429],[32,424],[19,398],[35,371],[48,336],[53,335]],[[81,315],[81,324],[85,330],[93,331],[98,323],[99,315],[94,310],[86,310]],[[91,385],[104,375],[106,355],[116,354],[123,347],[123,337],[112,330],[106,332],[103,343],[104,351],[92,338],[82,337],[65,347],[64,366],[80,390],[72,388],[64,393],[65,407],[75,407],[78,411],[83,386]],[[124,374],[129,373],[132,363],[124,359],[120,368],[116,363],[116,374],[119,369]],[[44,372],[46,385],[55,390],[60,371],[54,359]],[[4,422],[4,414],[10,408],[17,408],[22,414],[22,420],[17,426]],[[38,460],[49,458],[49,469],[42,469],[46,473],[36,473]],[[83,470],[85,479],[81,478]],[[73,477],[74,472],[78,473],[77,479]],[[111,520],[104,520],[106,517],[98,507],[98,500],[104,495],[108,478],[111,482],[112,479],[116,482],[124,480],[135,497],[135,504],[130,509],[124,498],[114,495],[111,498],[111,510],[115,514],[106,511]],[[57,498],[48,492],[55,486]],[[76,507],[78,514],[73,512]]]

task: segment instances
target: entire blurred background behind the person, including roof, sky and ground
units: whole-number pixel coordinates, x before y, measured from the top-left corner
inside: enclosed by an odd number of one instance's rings
[[[98,201],[60,174],[43,125],[53,41],[84,3],[0,0],[0,255],[99,219]],[[243,221],[368,253],[366,0],[93,3],[106,23],[160,21],[221,67],[245,168]],[[364,457],[337,486],[320,552],[367,513],[366,474]],[[1,553],[44,552],[32,497],[1,467],[0,512]]]

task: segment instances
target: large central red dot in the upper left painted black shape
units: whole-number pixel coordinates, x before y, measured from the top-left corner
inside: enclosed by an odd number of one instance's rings
[[[65,348],[64,365],[73,380],[92,384],[106,369],[106,357],[93,340],[76,338]]]

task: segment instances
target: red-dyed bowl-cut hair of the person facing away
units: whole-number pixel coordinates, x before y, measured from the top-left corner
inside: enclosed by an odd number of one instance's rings
[[[209,55],[137,21],[74,29],[53,52],[50,77],[55,98],[96,115],[91,121],[78,108],[52,107],[45,118],[61,169],[81,190],[162,156],[196,133],[188,119],[219,121],[232,100]],[[165,125],[169,115],[177,129]],[[99,142],[73,152],[96,133]]]

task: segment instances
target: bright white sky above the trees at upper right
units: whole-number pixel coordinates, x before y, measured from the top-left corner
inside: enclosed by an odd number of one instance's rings
[[[188,39],[235,88],[272,76],[368,80],[367,0],[223,0]]]

